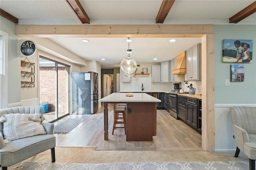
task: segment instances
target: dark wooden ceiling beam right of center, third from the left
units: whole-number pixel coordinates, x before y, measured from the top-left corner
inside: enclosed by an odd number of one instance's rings
[[[164,20],[169,13],[175,0],[163,0],[156,16],[156,23],[164,23]]]

